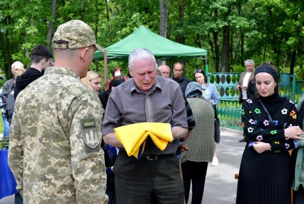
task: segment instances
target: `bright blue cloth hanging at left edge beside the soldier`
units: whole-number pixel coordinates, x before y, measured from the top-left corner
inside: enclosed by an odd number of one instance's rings
[[[8,165],[8,150],[0,149],[0,199],[18,193],[16,180]]]

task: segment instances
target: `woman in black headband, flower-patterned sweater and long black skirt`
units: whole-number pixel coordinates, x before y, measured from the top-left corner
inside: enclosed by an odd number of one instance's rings
[[[276,68],[264,64],[254,75],[257,96],[242,105],[246,147],[236,203],[290,203],[288,150],[294,148],[294,139],[301,139],[297,135],[303,132],[296,126],[295,105],[279,95]]]

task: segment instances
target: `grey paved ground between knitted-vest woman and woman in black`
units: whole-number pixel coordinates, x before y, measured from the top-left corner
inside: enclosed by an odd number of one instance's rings
[[[238,180],[234,178],[239,173],[241,158],[245,143],[239,142],[243,133],[238,130],[221,127],[220,143],[216,145],[218,166],[208,165],[203,202],[205,204],[236,203]],[[14,196],[0,200],[0,204],[13,204]],[[191,203],[191,194],[188,203]]]

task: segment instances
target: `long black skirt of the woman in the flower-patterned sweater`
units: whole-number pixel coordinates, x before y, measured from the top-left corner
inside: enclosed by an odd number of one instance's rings
[[[289,154],[245,147],[238,180],[236,203],[290,203]]]

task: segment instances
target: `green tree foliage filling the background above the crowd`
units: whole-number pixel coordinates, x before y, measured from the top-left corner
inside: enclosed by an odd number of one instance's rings
[[[10,78],[11,63],[19,60],[29,65],[30,50],[39,43],[47,45],[52,0],[2,0],[0,8],[0,68]],[[183,8],[182,19],[180,8]],[[171,40],[179,41],[184,37],[186,45],[207,49],[209,72],[215,72],[216,59],[221,60],[223,27],[229,26],[228,70],[243,71],[244,61],[250,58],[256,65],[272,61],[280,72],[288,72],[294,65],[297,79],[303,79],[303,11],[303,1],[170,1],[167,34]],[[140,25],[159,33],[159,1],[57,1],[52,34],[58,25],[71,19],[88,23],[96,34],[97,42],[107,47],[131,34]],[[218,54],[215,53],[215,35],[218,37]],[[173,59],[167,64],[176,61],[178,59]],[[120,66],[127,75],[126,62],[110,60],[108,73],[116,66]],[[200,59],[185,60],[185,66],[185,75],[193,79],[193,71],[204,68],[204,62]],[[96,66],[92,65],[91,69],[96,69]],[[98,71],[103,75],[102,69],[103,63],[100,62]]]

